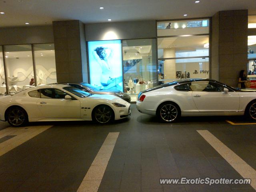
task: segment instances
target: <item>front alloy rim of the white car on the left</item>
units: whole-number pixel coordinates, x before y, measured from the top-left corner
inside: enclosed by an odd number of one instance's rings
[[[107,123],[112,120],[113,112],[109,106],[101,105],[94,110],[94,118],[99,123]]]

